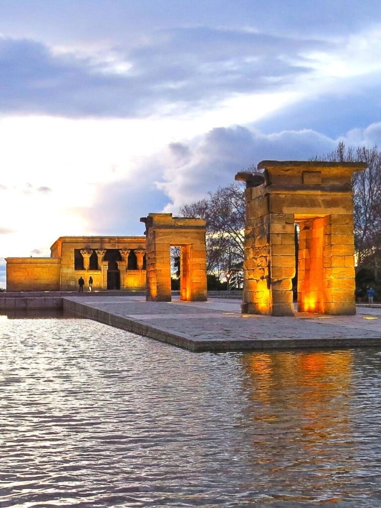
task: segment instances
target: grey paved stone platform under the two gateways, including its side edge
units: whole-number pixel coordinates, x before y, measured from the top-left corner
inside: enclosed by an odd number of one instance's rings
[[[146,302],[141,296],[67,297],[66,312],[194,351],[381,345],[381,309],[354,316],[241,315],[240,302]]]

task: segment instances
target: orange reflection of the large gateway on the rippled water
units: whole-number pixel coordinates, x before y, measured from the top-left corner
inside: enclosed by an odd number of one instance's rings
[[[353,435],[351,351],[248,353],[240,358],[249,399],[242,425],[249,429],[256,422],[252,444],[257,462],[272,471],[305,468],[316,475],[320,488],[332,475],[358,467],[348,455]]]

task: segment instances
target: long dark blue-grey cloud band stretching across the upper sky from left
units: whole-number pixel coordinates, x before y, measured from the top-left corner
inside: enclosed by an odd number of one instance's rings
[[[128,46],[128,47],[127,47]],[[0,39],[0,111],[129,117],[202,106],[233,93],[277,90],[309,72],[302,54],[326,45],[206,27],[151,31],[144,42],[100,55],[54,54],[28,39]]]

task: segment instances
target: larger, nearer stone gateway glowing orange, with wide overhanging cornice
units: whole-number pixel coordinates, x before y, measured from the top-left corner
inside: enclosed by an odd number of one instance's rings
[[[262,161],[262,173],[237,173],[246,182],[243,312],[293,315],[297,275],[298,311],[356,313],[351,179],[365,168]]]

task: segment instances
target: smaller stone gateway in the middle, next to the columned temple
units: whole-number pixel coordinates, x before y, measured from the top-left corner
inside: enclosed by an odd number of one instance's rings
[[[206,223],[203,219],[149,213],[146,225],[146,299],[171,301],[170,248],[180,247],[180,300],[206,301]]]

